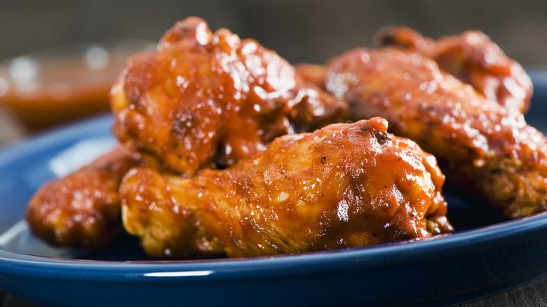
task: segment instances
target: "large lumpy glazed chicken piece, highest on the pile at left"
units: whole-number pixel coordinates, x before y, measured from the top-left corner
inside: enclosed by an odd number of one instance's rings
[[[346,104],[282,57],[188,18],[133,57],[112,90],[114,134],[194,175],[266,149],[275,137],[340,121]]]

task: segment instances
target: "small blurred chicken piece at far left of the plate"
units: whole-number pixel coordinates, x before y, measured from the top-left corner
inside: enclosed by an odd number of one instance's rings
[[[100,250],[122,232],[119,183],[140,159],[120,146],[44,184],[27,206],[32,233],[54,246]]]

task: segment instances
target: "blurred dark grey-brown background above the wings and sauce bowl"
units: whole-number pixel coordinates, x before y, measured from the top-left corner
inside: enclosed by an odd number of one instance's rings
[[[433,38],[480,29],[523,66],[541,68],[547,67],[546,13],[541,0],[0,0],[0,61],[74,43],[155,42],[177,20],[197,15],[212,29],[257,39],[294,63],[371,47],[381,27],[407,25]],[[6,107],[0,114],[0,130],[13,131],[2,133],[4,142],[41,129],[18,126],[12,115]]]

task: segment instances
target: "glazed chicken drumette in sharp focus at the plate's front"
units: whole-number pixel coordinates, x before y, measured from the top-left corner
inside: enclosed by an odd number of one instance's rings
[[[192,178],[134,168],[123,223],[151,256],[246,257],[331,250],[451,231],[435,158],[382,118],[278,137]]]

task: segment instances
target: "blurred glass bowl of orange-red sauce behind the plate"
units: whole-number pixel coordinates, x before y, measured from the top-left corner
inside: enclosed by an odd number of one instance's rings
[[[0,103],[29,132],[110,109],[109,91],[147,40],[63,46],[0,63]]]

